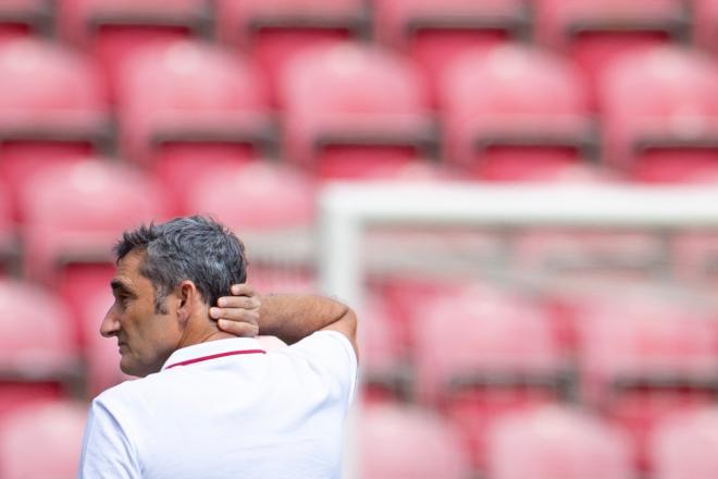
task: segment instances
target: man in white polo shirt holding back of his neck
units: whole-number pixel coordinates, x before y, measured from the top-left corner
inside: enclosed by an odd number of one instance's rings
[[[81,478],[341,477],[357,373],[349,308],[282,295],[260,306],[240,284],[244,246],[201,217],[126,232],[115,254],[100,332],[143,379],[92,402]],[[234,335],[257,333],[289,346]]]

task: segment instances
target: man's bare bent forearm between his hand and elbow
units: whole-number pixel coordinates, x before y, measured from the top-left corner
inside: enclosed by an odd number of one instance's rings
[[[259,333],[287,344],[354,316],[347,306],[323,296],[276,294],[262,296],[261,303]]]

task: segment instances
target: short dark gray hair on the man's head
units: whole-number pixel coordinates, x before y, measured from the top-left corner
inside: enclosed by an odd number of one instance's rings
[[[132,250],[145,251],[140,273],[154,285],[154,309],[164,312],[164,298],[184,280],[195,283],[208,305],[227,296],[247,280],[245,245],[221,223],[200,216],[125,231],[114,246],[120,261]]]

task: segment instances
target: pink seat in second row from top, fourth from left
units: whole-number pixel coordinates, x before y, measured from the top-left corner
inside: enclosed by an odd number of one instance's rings
[[[586,91],[560,58],[518,45],[465,53],[447,70],[440,102],[446,158],[472,177],[591,175],[578,173],[596,158]]]

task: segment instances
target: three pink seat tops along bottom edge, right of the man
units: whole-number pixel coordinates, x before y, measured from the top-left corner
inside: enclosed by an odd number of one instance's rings
[[[708,479],[718,474],[715,407],[671,417],[651,438],[656,469],[639,476],[630,443],[610,423],[548,406],[498,420],[487,440],[486,479]],[[471,464],[455,429],[416,408],[370,407],[361,417],[364,479],[468,479]],[[387,446],[391,444],[391,446]]]

